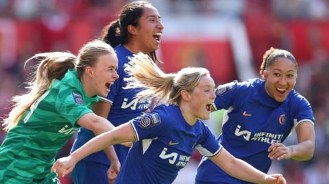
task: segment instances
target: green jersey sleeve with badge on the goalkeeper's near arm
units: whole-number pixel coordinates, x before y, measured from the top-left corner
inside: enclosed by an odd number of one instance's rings
[[[93,112],[86,106],[82,94],[73,90],[66,90],[58,95],[56,109],[60,116],[71,122],[72,126],[84,114]]]

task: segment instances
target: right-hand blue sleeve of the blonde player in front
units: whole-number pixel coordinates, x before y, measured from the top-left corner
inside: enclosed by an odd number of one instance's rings
[[[202,133],[202,137],[195,148],[197,148],[197,150],[199,150],[199,152],[205,157],[212,157],[219,153],[223,147],[217,142],[215,135],[211,133],[206,124],[203,124],[203,126],[204,133]]]

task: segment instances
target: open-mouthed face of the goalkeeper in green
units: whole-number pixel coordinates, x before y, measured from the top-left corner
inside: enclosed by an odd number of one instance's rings
[[[91,83],[95,94],[106,97],[110,92],[110,86],[119,78],[117,73],[118,59],[114,54],[101,55],[98,62],[92,67],[93,77]]]

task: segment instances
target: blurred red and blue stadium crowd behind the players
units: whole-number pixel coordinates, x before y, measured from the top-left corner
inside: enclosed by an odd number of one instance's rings
[[[101,27],[116,18],[127,2],[0,0],[0,116],[10,111],[8,101],[12,96],[25,92],[23,83],[33,71],[33,62],[24,68],[27,58],[47,51],[76,53],[82,44],[97,38]],[[296,89],[310,101],[316,118],[315,156],[302,162],[274,161],[270,172],[282,172],[288,183],[329,183],[329,147],[326,146],[329,144],[329,1],[170,0],[151,3],[163,19],[167,15],[205,14],[231,16],[243,21],[256,73],[263,53],[271,46],[295,55],[299,62]],[[166,61],[163,62],[165,65]],[[208,123],[217,123],[215,129],[220,129],[218,120]],[[5,132],[0,130],[0,142],[4,136]],[[72,142],[62,149],[60,156],[68,154]],[[297,142],[293,134],[286,143],[292,142]],[[197,153],[194,158],[195,163],[200,159]]]

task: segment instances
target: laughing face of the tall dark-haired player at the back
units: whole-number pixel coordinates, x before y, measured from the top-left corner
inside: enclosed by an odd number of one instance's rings
[[[158,10],[147,4],[143,8],[143,15],[138,20],[136,31],[131,33],[132,39],[136,39],[143,53],[156,51],[161,41],[163,29]]]

